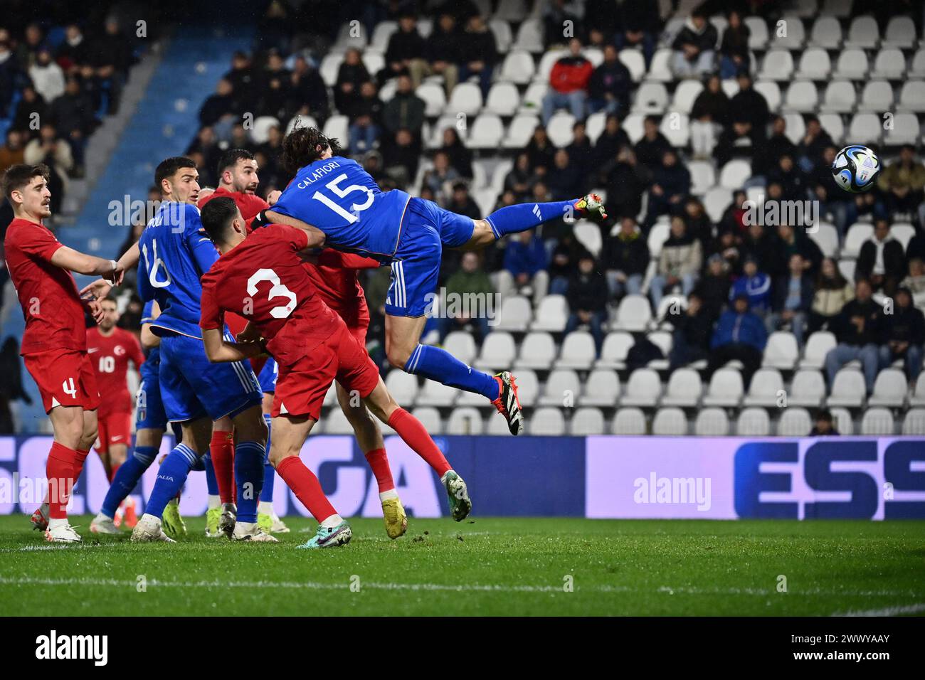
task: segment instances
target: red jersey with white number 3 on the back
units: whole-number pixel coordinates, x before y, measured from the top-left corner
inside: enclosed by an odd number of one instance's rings
[[[255,230],[218,258],[202,278],[202,328],[222,328],[226,312],[248,319],[279,365],[301,359],[343,326],[305,273],[302,229],[274,224]]]

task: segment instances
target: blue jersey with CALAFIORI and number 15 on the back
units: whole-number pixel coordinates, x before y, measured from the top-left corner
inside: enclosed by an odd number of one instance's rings
[[[410,198],[382,192],[359,163],[336,155],[302,167],[271,210],[324,231],[328,247],[388,262]]]

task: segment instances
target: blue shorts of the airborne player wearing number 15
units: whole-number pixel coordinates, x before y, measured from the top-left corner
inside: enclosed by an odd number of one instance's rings
[[[391,282],[386,296],[386,314],[423,316],[436,300],[437,278],[443,247],[455,248],[472,238],[472,217],[444,210],[433,201],[412,198],[401,224]]]

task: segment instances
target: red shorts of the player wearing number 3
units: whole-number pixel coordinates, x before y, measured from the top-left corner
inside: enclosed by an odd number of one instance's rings
[[[376,364],[345,327],[340,327],[295,364],[279,366],[273,417],[307,415],[318,420],[321,404],[334,380],[348,391],[357,390],[361,397],[369,396],[379,382]]]

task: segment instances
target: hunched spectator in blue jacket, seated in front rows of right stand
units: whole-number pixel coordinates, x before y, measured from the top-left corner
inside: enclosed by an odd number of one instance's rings
[[[748,296],[742,293],[735,297],[733,308],[720,315],[720,320],[709,343],[707,377],[717,368],[738,359],[742,362],[742,382],[745,388],[761,365],[761,356],[768,343],[768,330],[759,315],[748,310]]]

